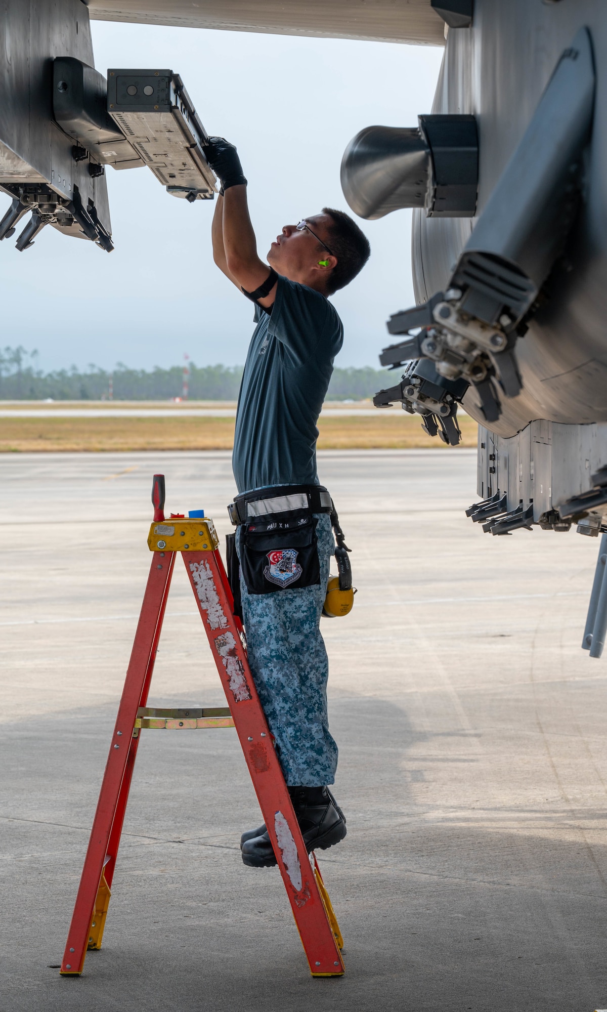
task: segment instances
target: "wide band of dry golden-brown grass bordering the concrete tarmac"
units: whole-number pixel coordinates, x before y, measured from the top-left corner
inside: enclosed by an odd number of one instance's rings
[[[15,413],[17,415],[17,413]],[[462,446],[476,445],[476,423],[459,419]],[[319,449],[410,449],[442,446],[403,411],[343,418],[321,416]],[[233,418],[1,418],[0,452],[231,449]]]

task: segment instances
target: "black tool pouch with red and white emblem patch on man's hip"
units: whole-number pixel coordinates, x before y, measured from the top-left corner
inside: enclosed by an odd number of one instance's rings
[[[275,594],[321,582],[317,519],[308,510],[274,513],[240,528],[241,567],[250,594]]]

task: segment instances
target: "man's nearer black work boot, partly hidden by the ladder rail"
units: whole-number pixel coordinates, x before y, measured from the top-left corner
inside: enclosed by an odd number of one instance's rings
[[[289,787],[288,792],[309,852],[326,850],[343,840],[346,821],[327,787]],[[254,868],[277,863],[267,831],[246,840],[242,855],[244,863]]]

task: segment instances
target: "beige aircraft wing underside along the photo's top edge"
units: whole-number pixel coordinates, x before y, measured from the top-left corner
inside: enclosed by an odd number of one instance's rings
[[[281,35],[444,45],[430,0],[85,0],[91,18]]]

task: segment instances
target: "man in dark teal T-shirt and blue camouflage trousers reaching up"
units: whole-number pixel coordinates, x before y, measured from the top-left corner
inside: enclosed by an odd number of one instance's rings
[[[205,149],[222,182],[212,222],[218,267],[255,303],[257,324],[239,396],[230,508],[248,660],[309,851],[339,843],[343,813],[328,785],[337,745],[327,718],[328,659],[320,632],[336,523],[319,485],[317,419],[343,328],[328,297],[364,266],[370,248],[343,212],[285,226],[264,263],[247,205],[236,148]],[[269,267],[268,267],[269,264]],[[240,563],[240,567],[239,567]],[[240,584],[240,586],[239,586]],[[245,864],[276,864],[265,825],[243,833]]]

